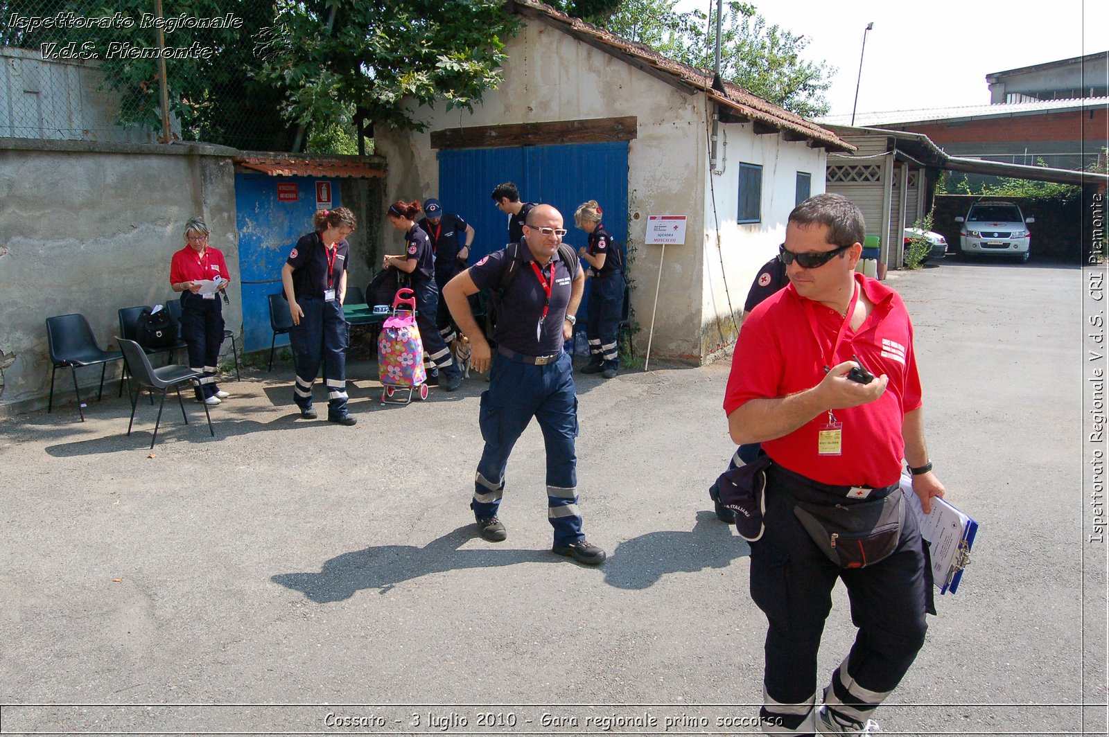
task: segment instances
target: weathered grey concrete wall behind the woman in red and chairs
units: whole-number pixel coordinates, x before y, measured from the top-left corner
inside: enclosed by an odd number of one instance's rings
[[[237,283],[233,153],[204,144],[0,139],[0,414],[45,406],[47,317],[81,313],[101,348],[114,349],[119,308],[173,295],[170,258],[185,243],[190,217],[205,219]],[[241,331],[236,299],[224,317]],[[119,366],[109,368],[109,377],[119,375]],[[78,377],[94,389],[100,371],[78,369]],[[73,401],[62,371],[58,400]]]

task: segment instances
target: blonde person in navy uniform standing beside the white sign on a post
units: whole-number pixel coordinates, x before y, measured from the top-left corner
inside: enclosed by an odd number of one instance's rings
[[[590,199],[573,214],[574,224],[589,234],[588,245],[578,255],[589,264],[589,317],[586,337],[589,338],[589,364],[582,373],[601,373],[611,379],[620,370],[620,347],[617,327],[623,311],[623,258],[620,245],[601,223],[601,206]]]

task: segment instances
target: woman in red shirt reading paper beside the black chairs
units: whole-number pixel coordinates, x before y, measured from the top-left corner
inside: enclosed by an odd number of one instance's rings
[[[203,373],[196,386],[196,400],[218,405],[227,392],[215,382],[220,347],[223,345],[223,307],[216,295],[201,295],[201,282],[221,282],[227,288],[231,274],[218,248],[208,245],[208,228],[199,217],[185,223],[185,247],[170,262],[170,287],[181,293],[181,338],[189,347],[189,366]]]

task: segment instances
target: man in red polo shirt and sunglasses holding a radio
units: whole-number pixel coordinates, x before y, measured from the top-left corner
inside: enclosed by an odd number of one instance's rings
[[[862,564],[833,562],[835,538],[822,550],[795,513],[889,509],[903,461],[925,512],[944,494],[924,440],[908,314],[897,293],[855,273],[864,234],[863,214],[840,195],[794,208],[781,248],[790,286],[744,320],[735,354],[759,360],[733,361],[724,397],[732,440],[761,442],[769,463],[762,524],[741,529],[752,540],[751,597],[769,621],[760,712],[769,733],[872,734],[869,715],[908,671],[925,613],[935,613],[910,511],[892,553]],[[837,580],[858,633],[816,710],[816,654]]]

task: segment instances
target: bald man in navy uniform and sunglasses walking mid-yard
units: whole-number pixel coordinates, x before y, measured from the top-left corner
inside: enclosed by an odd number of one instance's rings
[[[554,529],[551,550],[599,565],[604,551],[586,540],[578,508],[578,401],[570,355],[562,350],[581,304],[584,274],[577,258],[571,263],[561,258],[559,244],[564,235],[562,215],[550,205],[537,205],[528,213],[519,248],[522,263],[506,287],[494,335],[496,355],[474,319],[468,297],[500,283],[510,249],[489,254],[451,279],[444,294],[459,330],[470,339],[472,367],[490,370],[478,416],[485,450],[470,501],[481,536],[491,542],[508,536],[497,515],[505,469],[512,446],[533,417],[547,448],[547,518]]]

